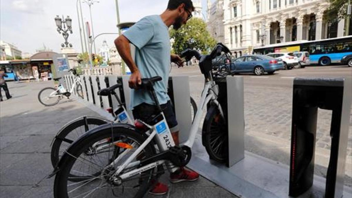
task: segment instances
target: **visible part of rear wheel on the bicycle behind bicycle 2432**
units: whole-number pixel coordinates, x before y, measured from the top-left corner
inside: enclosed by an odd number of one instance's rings
[[[106,124],[103,119],[98,118],[82,118],[75,122],[68,124],[61,132],[57,134],[51,147],[51,164],[55,168],[64,151],[73,143],[78,137],[96,126]]]

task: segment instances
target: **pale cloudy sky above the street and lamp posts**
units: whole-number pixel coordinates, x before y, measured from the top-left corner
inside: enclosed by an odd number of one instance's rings
[[[94,35],[117,33],[115,0],[99,0],[92,5]],[[211,0],[214,2],[215,0]],[[64,38],[56,30],[56,15],[72,19],[73,34],[68,42],[77,52],[81,52],[78,28],[77,0],[0,0],[0,39],[12,43],[22,52],[34,54],[36,49],[47,48],[60,52]],[[206,0],[202,0],[206,15]],[[119,0],[120,21],[136,22],[144,16],[161,14],[168,0]],[[89,6],[82,0],[83,20],[90,22]],[[83,37],[83,35],[82,35]],[[103,35],[96,39],[96,51],[104,40],[112,47],[115,35]],[[93,48],[94,52],[94,48]]]

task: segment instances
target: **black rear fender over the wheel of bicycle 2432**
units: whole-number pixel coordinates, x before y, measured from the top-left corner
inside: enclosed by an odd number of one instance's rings
[[[87,131],[86,133],[84,133],[82,136],[80,136],[77,140],[75,140],[70,145],[70,147],[67,149],[67,152],[65,152],[62,155],[61,159],[59,160],[59,162],[55,166],[54,171],[49,175],[48,178],[50,178],[50,177],[54,176],[56,173],[58,173],[60,171],[60,167],[62,167],[62,165],[64,165],[66,163],[66,161],[69,159],[69,157],[72,157],[71,155],[68,154],[68,153],[71,153],[72,148],[75,148],[76,145],[81,144],[82,141],[86,140],[87,137],[89,137],[89,136],[91,136],[91,135],[93,135],[93,134],[95,134],[95,133],[97,133],[97,132],[99,132],[101,130],[112,129],[112,128],[113,129],[114,128],[126,128],[126,129],[129,129],[129,130],[135,131],[136,133],[142,135],[145,138],[148,138],[148,136],[145,133],[138,131],[138,129],[136,129],[135,126],[130,125],[130,124],[108,123],[108,124],[97,126],[94,129],[91,129],[91,130]],[[153,149],[155,151],[154,147],[153,147]]]

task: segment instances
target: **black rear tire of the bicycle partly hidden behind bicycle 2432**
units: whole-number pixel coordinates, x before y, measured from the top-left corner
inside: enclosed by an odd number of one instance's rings
[[[88,130],[89,130],[89,125],[99,126],[99,125],[103,125],[106,123],[107,122],[103,119],[87,118]],[[55,140],[51,146],[51,164],[54,168],[57,165],[57,163],[59,162],[60,157],[61,157],[60,148],[62,147],[62,142],[66,142],[68,144],[71,144],[70,141],[75,141],[75,140],[68,139],[67,136],[69,134],[73,133],[74,130],[76,130],[77,128],[80,128],[81,126],[84,126],[86,128],[86,123],[85,123],[84,118],[76,120],[75,122],[64,126],[64,128],[62,128],[60,130],[60,132],[56,135]],[[87,131],[84,131],[84,132],[87,132]],[[66,150],[66,149],[61,149],[61,150]]]

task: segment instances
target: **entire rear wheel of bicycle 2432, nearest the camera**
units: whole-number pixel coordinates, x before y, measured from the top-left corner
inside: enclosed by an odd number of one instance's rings
[[[114,166],[107,168],[107,165],[111,164],[117,156],[127,149],[120,147],[117,149],[115,143],[110,143],[108,144],[109,147],[92,150],[93,145],[105,140],[112,140],[113,142],[119,140],[133,145],[133,147],[129,148],[130,150],[124,153],[125,155]],[[79,143],[72,145],[67,154],[63,156],[64,162],[60,171],[56,174],[54,197],[143,197],[151,185],[154,169],[146,170],[128,178],[119,185],[111,181],[111,176],[116,168],[122,165],[145,140],[142,135],[131,129],[114,127],[113,129],[107,128],[96,131],[85,137],[84,140],[80,140]],[[153,149],[152,144],[148,144],[131,163],[147,159],[153,155],[155,155],[155,149]],[[139,168],[139,166],[127,168],[122,171],[122,174],[136,168]],[[96,173],[99,173],[99,175]],[[77,175],[79,178],[76,177],[75,179],[80,180],[72,182],[70,180],[72,174]]]

